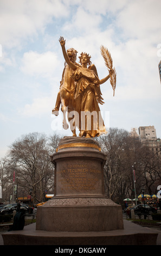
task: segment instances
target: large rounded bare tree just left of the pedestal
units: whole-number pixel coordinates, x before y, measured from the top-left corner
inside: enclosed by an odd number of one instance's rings
[[[32,188],[34,202],[43,200],[44,191],[54,186],[54,166],[46,135],[37,132],[23,135],[11,145],[9,156],[15,165],[18,187],[27,193]]]

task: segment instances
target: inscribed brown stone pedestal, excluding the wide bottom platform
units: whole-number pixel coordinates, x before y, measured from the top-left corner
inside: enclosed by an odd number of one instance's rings
[[[124,229],[121,206],[105,196],[106,156],[94,139],[63,138],[51,161],[55,165],[54,197],[38,207],[36,230]]]

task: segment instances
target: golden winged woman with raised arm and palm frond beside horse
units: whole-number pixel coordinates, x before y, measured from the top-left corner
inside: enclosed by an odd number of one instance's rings
[[[109,74],[100,80],[95,65],[91,63],[91,56],[89,56],[89,54],[85,52],[80,54],[79,65],[75,63],[75,61],[71,61],[68,52],[66,52],[66,40],[64,40],[63,37],[60,37],[59,41],[62,47],[63,56],[68,65],[68,69],[70,69],[70,76],[68,76],[68,80],[70,80],[73,85],[73,136],[76,136],[76,127],[79,129],[80,137],[98,137],[107,133],[104,121],[101,117],[99,103],[104,103],[102,101],[103,99],[101,96],[100,84],[105,83],[110,78],[112,88],[115,90],[116,73],[115,69],[112,68],[113,64],[110,52],[108,52],[107,48],[101,46],[101,54],[105,60]],[[64,96],[66,97],[66,95]],[[63,96],[61,97],[61,102],[63,102]],[[69,102],[66,105],[69,105]],[[62,110],[65,110],[63,105],[62,108]],[[64,122],[65,115],[63,115],[63,117]]]

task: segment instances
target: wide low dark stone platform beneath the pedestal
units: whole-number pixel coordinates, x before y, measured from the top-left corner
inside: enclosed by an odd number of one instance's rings
[[[161,245],[161,230],[127,220],[121,230],[73,233],[36,230],[33,223],[23,230],[4,232],[3,238],[5,242],[0,239],[1,245]]]

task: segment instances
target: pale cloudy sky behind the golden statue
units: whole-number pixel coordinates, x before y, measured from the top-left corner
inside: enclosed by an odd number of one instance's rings
[[[100,46],[110,51],[117,86],[113,96],[110,81],[101,84],[105,125],[154,125],[161,138],[160,10],[160,0],[1,0],[0,158],[30,132],[72,136],[61,111],[51,114],[65,63],[60,36],[66,49],[91,55],[100,79],[108,75]]]

